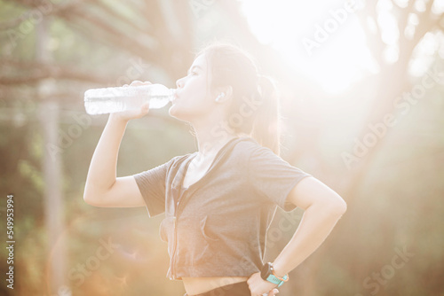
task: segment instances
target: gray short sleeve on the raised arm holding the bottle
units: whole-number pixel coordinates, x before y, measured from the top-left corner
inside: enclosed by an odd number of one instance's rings
[[[165,182],[170,162],[171,160],[158,167],[133,175],[147,204],[150,217],[165,211]]]

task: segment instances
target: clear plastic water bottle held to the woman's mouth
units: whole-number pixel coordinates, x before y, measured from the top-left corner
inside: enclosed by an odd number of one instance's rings
[[[91,115],[139,109],[146,102],[150,109],[159,109],[174,99],[174,93],[162,84],[86,90],[84,106]]]

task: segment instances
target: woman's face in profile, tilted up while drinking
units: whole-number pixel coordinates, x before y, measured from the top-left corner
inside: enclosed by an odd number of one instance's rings
[[[216,103],[210,94],[210,69],[201,54],[194,59],[188,74],[176,82],[178,90],[170,106],[170,115],[181,121],[208,116]]]

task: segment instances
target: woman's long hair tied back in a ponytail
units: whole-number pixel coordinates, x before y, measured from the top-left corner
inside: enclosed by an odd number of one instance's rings
[[[198,52],[207,58],[210,90],[231,86],[233,99],[228,125],[236,133],[252,136],[258,144],[280,153],[279,101],[274,82],[258,73],[253,58],[239,47],[212,43]]]

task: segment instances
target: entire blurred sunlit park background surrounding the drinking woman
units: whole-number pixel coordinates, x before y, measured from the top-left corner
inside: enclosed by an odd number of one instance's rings
[[[281,157],[348,204],[280,295],[444,295],[443,12],[443,0],[0,0],[0,294],[183,295],[165,277],[163,214],[83,202],[107,121],[83,93],[175,87],[219,40],[278,82]],[[118,175],[195,150],[186,123],[152,110],[130,122]],[[301,214],[278,211],[267,261]]]

